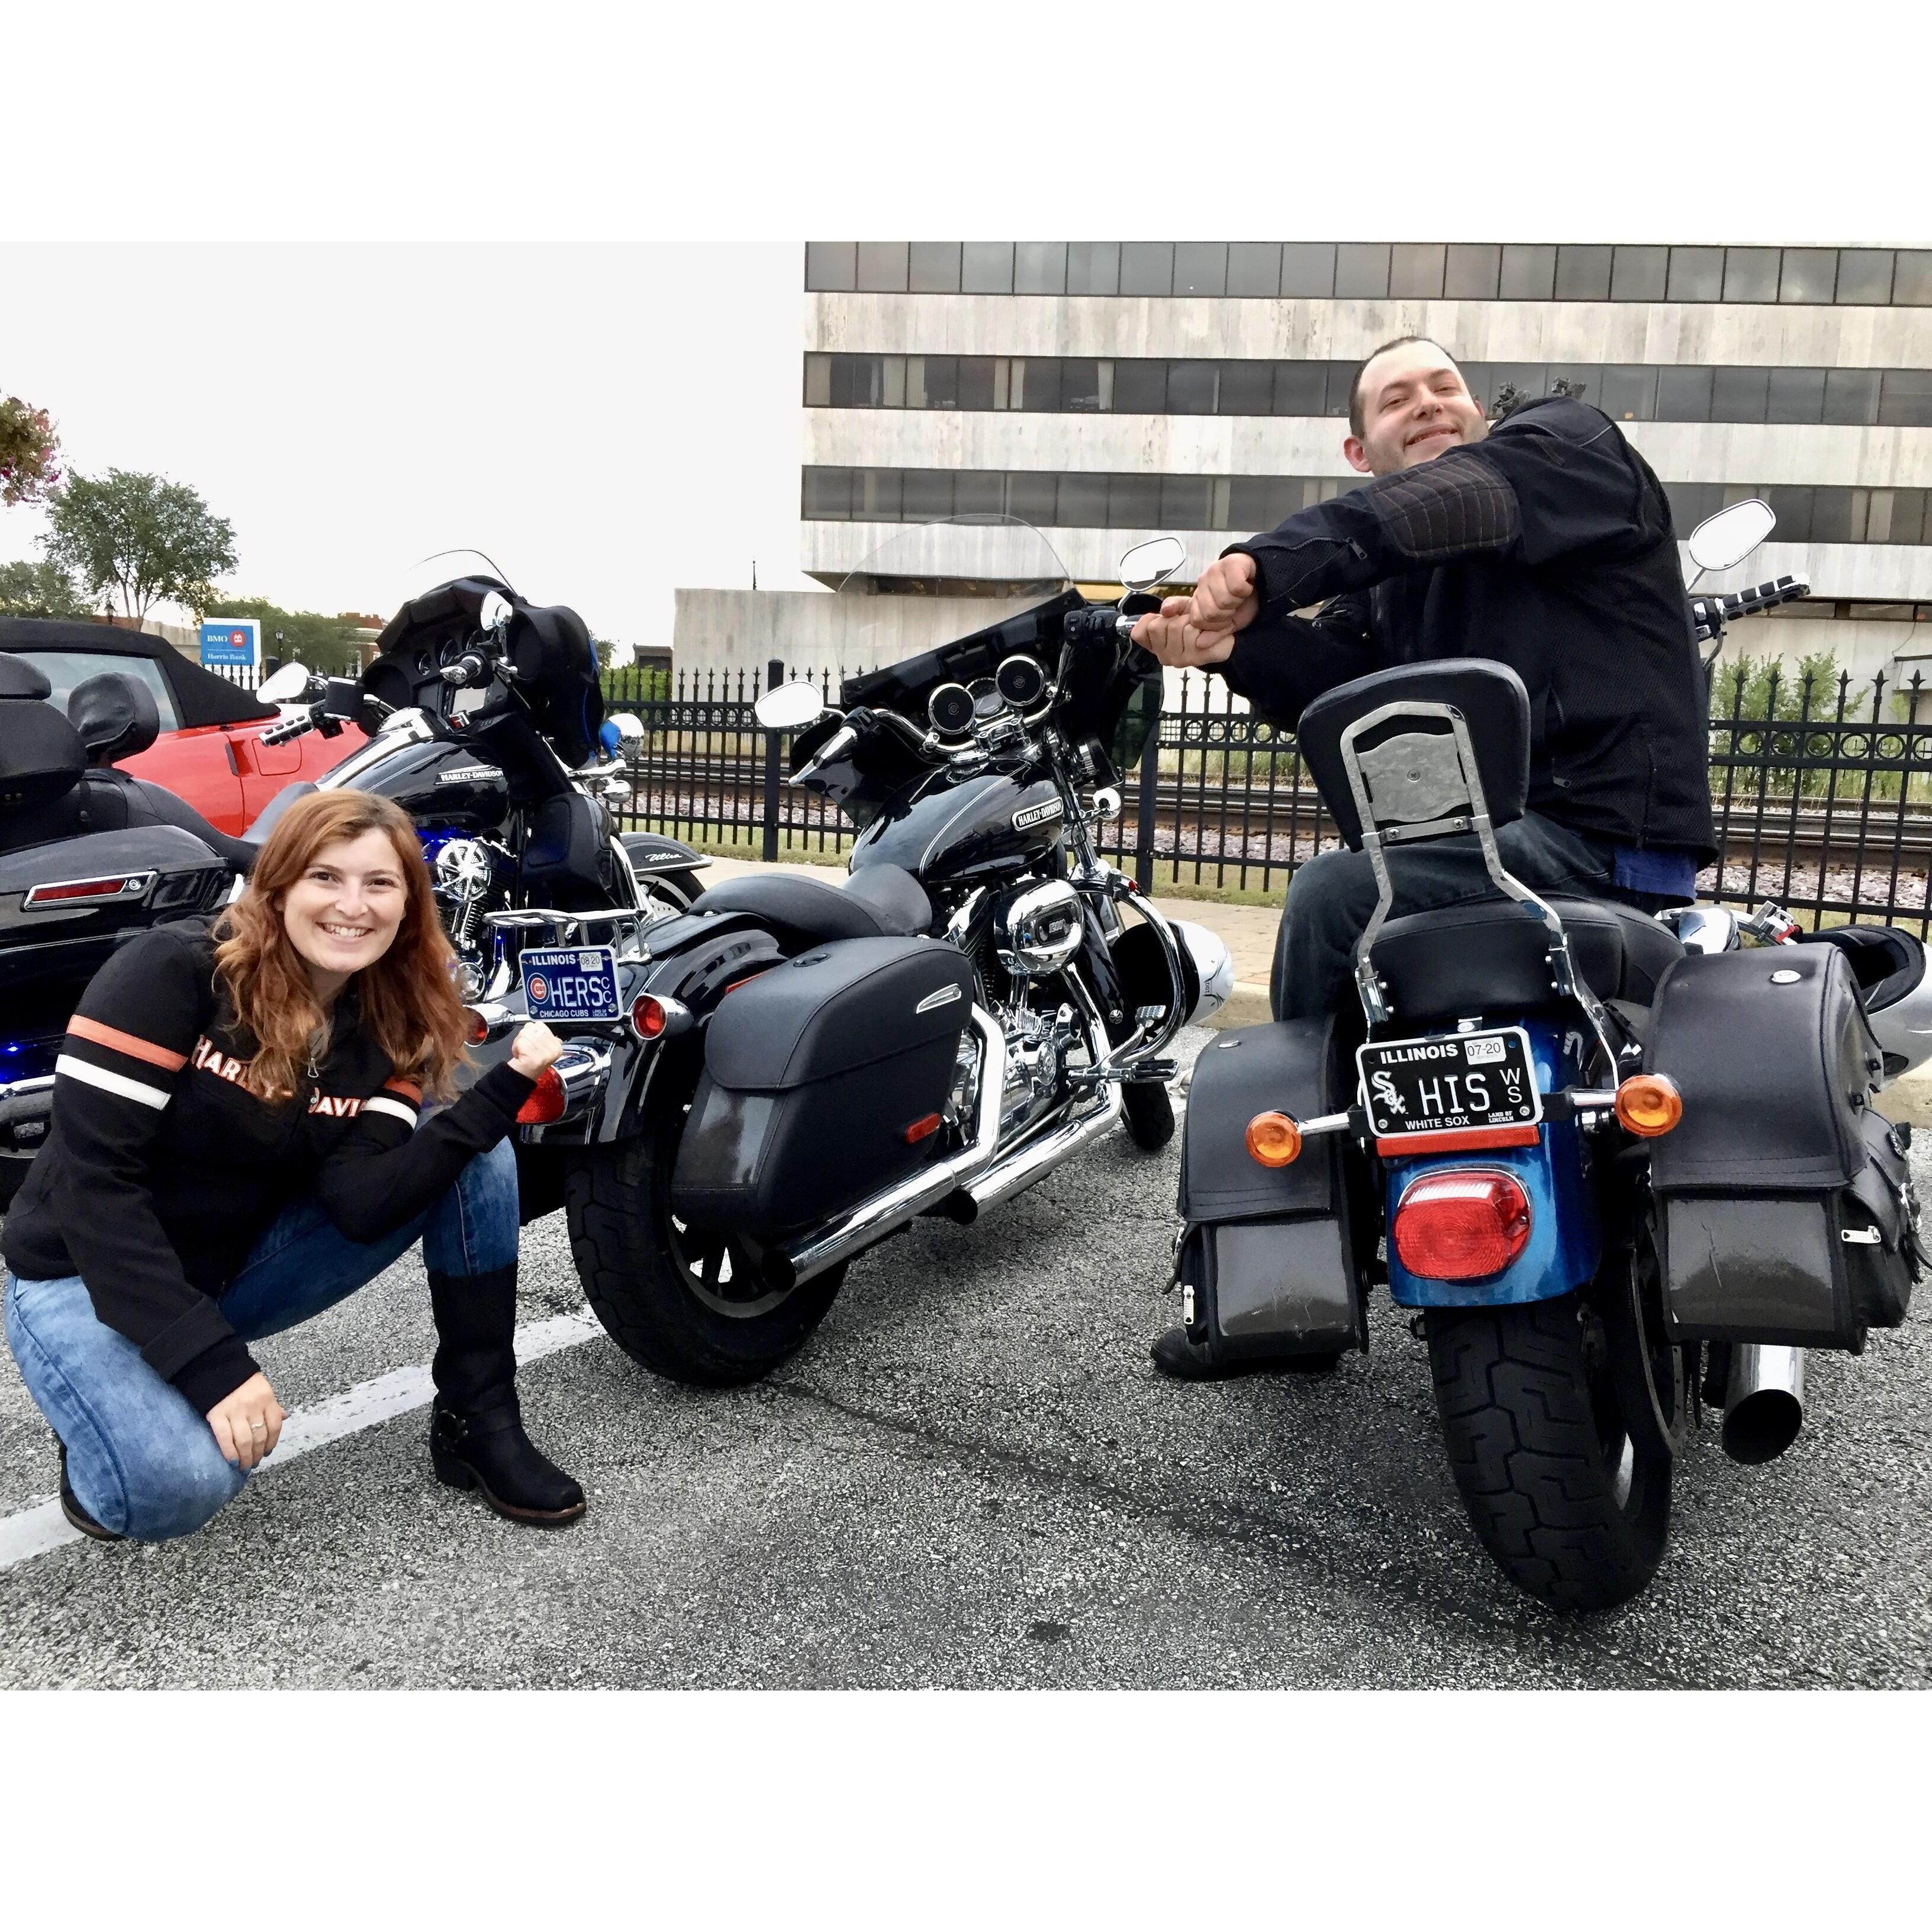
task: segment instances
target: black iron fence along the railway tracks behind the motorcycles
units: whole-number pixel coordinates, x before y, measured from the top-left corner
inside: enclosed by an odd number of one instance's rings
[[[759,690],[786,676],[837,696],[837,672],[779,663],[609,672],[607,705],[645,726],[628,823],[744,858],[844,850],[850,823],[782,782],[781,744],[752,713]],[[1806,923],[1897,923],[1926,937],[1932,692],[1922,703],[1918,676],[1723,678],[1710,788],[1721,860],[1700,875],[1700,898],[1776,898]],[[1302,860],[1339,842],[1294,734],[1225,709],[1225,686],[1204,674],[1182,674],[1169,692],[1159,753],[1144,753],[1122,790],[1101,850],[1153,893],[1277,896]]]

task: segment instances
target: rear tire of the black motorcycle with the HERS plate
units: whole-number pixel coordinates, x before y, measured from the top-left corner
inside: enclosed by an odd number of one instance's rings
[[[564,1182],[570,1252],[591,1310],[632,1360],[670,1381],[734,1389],[769,1376],[810,1341],[846,1264],[763,1308],[753,1302],[724,1314],[713,1306],[686,1267],[670,1213],[684,1117],[684,1107],[672,1107],[636,1140],[582,1151]]]

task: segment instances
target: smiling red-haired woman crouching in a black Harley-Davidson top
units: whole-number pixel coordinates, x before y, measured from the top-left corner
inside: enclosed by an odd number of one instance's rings
[[[199,1528],[274,1449],[249,1354],[417,1238],[440,1347],[437,1476],[522,1522],[583,1492],[516,1405],[516,1161],[506,1136],[560,1047],[454,1086],[466,1016],[415,827],[315,792],[214,933],[118,952],[68,1024],[54,1113],[6,1219],[6,1335],[54,1426],[62,1507],[89,1536]]]

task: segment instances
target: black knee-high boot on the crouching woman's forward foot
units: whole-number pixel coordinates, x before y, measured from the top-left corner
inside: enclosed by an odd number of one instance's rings
[[[483,1275],[429,1275],[437,1406],[429,1457],[458,1490],[481,1490],[498,1517],[547,1526],[583,1515],[583,1490],[524,1434],[516,1403],[516,1264]]]

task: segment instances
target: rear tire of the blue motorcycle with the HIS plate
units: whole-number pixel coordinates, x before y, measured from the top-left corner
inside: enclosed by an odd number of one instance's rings
[[[1551,1609],[1627,1604],[1663,1559],[1671,1459],[1623,1424],[1578,1294],[1435,1308],[1430,1368],[1449,1470],[1476,1540]]]

